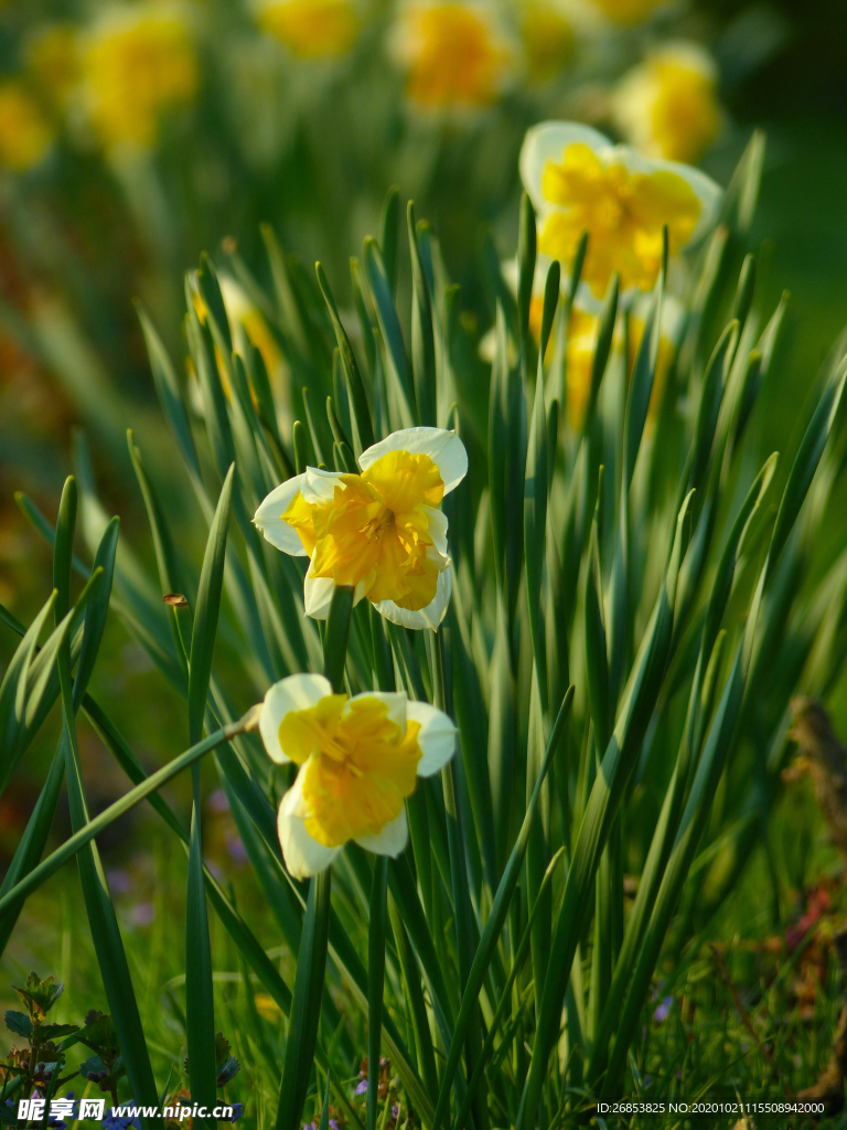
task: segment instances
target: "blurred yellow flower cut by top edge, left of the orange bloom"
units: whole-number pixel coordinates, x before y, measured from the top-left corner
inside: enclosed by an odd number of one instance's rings
[[[359,29],[350,0],[265,0],[259,23],[299,59],[342,55]]]

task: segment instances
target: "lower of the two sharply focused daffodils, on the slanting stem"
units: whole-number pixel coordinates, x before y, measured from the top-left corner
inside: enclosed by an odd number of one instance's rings
[[[381,690],[337,695],[322,675],[274,684],[259,729],[272,760],[300,767],[277,825],[297,879],[323,871],[350,841],[399,855],[409,836],[405,798],[456,747],[455,727],[435,706]]]

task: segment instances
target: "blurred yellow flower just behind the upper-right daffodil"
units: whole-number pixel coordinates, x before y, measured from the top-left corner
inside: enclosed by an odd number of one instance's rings
[[[717,68],[696,43],[666,43],[623,76],[612,95],[615,125],[644,153],[698,160],[721,131]]]

